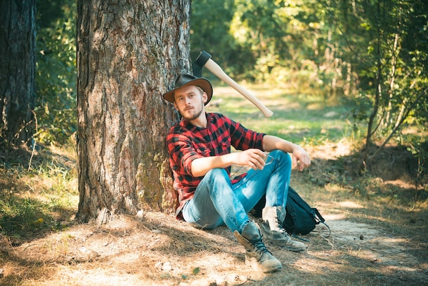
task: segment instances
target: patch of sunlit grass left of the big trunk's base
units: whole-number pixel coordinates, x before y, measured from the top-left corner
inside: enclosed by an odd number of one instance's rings
[[[36,169],[25,161],[0,166],[0,233],[27,239],[45,230],[64,228],[77,209],[74,166],[38,158]],[[48,161],[49,163],[46,163]]]

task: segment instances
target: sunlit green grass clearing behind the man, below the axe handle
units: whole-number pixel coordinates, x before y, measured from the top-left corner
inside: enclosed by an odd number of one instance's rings
[[[339,142],[355,136],[351,106],[338,102],[332,104],[323,96],[289,94],[281,90],[272,93],[263,89],[251,91],[271,109],[273,116],[265,118],[250,101],[242,100],[243,97],[232,88],[215,88],[213,102],[222,102],[207,107],[207,111],[220,112],[249,129],[300,144],[320,144],[325,140]]]

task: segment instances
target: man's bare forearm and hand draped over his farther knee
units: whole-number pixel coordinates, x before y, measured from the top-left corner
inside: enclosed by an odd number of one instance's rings
[[[304,151],[304,148],[282,138],[272,135],[265,135],[263,138],[263,150],[270,152],[276,149],[282,150],[286,153],[292,153],[293,167],[298,166],[299,171],[302,171],[304,168],[310,166],[310,157],[308,153]]]

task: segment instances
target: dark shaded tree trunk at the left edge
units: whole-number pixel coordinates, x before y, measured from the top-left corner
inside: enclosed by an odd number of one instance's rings
[[[0,150],[31,144],[35,69],[36,1],[0,1]]]

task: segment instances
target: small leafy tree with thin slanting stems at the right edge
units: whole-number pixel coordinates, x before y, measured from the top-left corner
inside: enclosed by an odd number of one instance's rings
[[[419,1],[387,3],[378,0],[375,3],[376,13],[371,27],[375,29],[376,36],[369,46],[373,55],[375,92],[364,159],[373,159],[403,128],[406,120],[412,120],[412,116],[417,114],[416,117],[428,118],[427,51],[419,42],[426,41],[423,33],[423,27],[427,27],[426,10],[422,10],[424,6]],[[420,18],[425,18],[425,21],[420,21]],[[420,32],[415,33],[415,28]],[[414,40],[416,44],[413,44]],[[385,139],[368,158],[369,146],[376,131]]]

